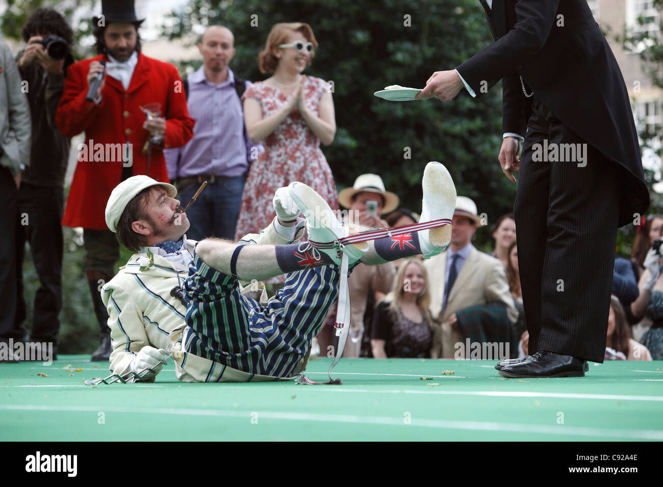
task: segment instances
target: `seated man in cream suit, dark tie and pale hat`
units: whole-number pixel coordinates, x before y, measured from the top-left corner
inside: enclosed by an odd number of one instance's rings
[[[509,320],[515,323],[518,319],[502,264],[471,244],[477,225],[481,225],[477,205],[468,197],[457,197],[449,248],[424,261],[430,276],[430,311],[442,331],[436,334],[436,357],[454,358],[456,344],[463,343],[465,337],[456,319],[461,309],[502,302]],[[469,350],[462,356],[469,358]]]

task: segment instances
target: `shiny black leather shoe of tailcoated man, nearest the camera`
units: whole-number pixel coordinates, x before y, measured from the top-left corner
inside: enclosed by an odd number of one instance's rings
[[[503,377],[584,377],[585,362],[571,355],[538,351],[529,360],[502,368]]]

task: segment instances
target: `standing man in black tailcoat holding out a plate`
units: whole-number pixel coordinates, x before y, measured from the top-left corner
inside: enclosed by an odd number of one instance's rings
[[[603,362],[617,228],[649,206],[624,79],[585,0],[480,0],[495,42],[435,72],[418,98],[450,101],[503,80],[503,172],[535,353],[507,377],[583,376]],[[519,158],[522,145],[522,160]]]

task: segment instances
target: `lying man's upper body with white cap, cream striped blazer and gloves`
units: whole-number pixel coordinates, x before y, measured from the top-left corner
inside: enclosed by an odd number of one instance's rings
[[[170,184],[133,176],[113,189],[106,206],[109,229],[136,252],[101,290],[111,329],[110,370],[120,376],[151,367],[154,373],[145,375],[145,381],[154,381],[162,368],[159,362],[168,360],[170,334],[178,337],[184,329],[186,306],[170,291],[186,279],[196,241],[186,239],[190,223],[180,213],[176,193]],[[276,191],[274,209],[278,215],[271,225],[260,235],[247,235],[243,243],[290,244],[302,237],[304,219],[297,217],[299,209],[285,188]],[[267,303],[261,282],[247,284],[242,292]],[[176,375],[192,380],[178,365]]]

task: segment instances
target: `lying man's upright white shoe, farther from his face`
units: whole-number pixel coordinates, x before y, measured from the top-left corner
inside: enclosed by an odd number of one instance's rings
[[[422,199],[421,218],[419,223],[432,220],[453,219],[453,210],[456,203],[456,192],[452,176],[447,168],[440,162],[432,161],[426,164],[424,177],[421,182],[424,191]],[[443,225],[433,229],[418,232],[419,244],[424,258],[444,252],[452,239],[452,226]]]

